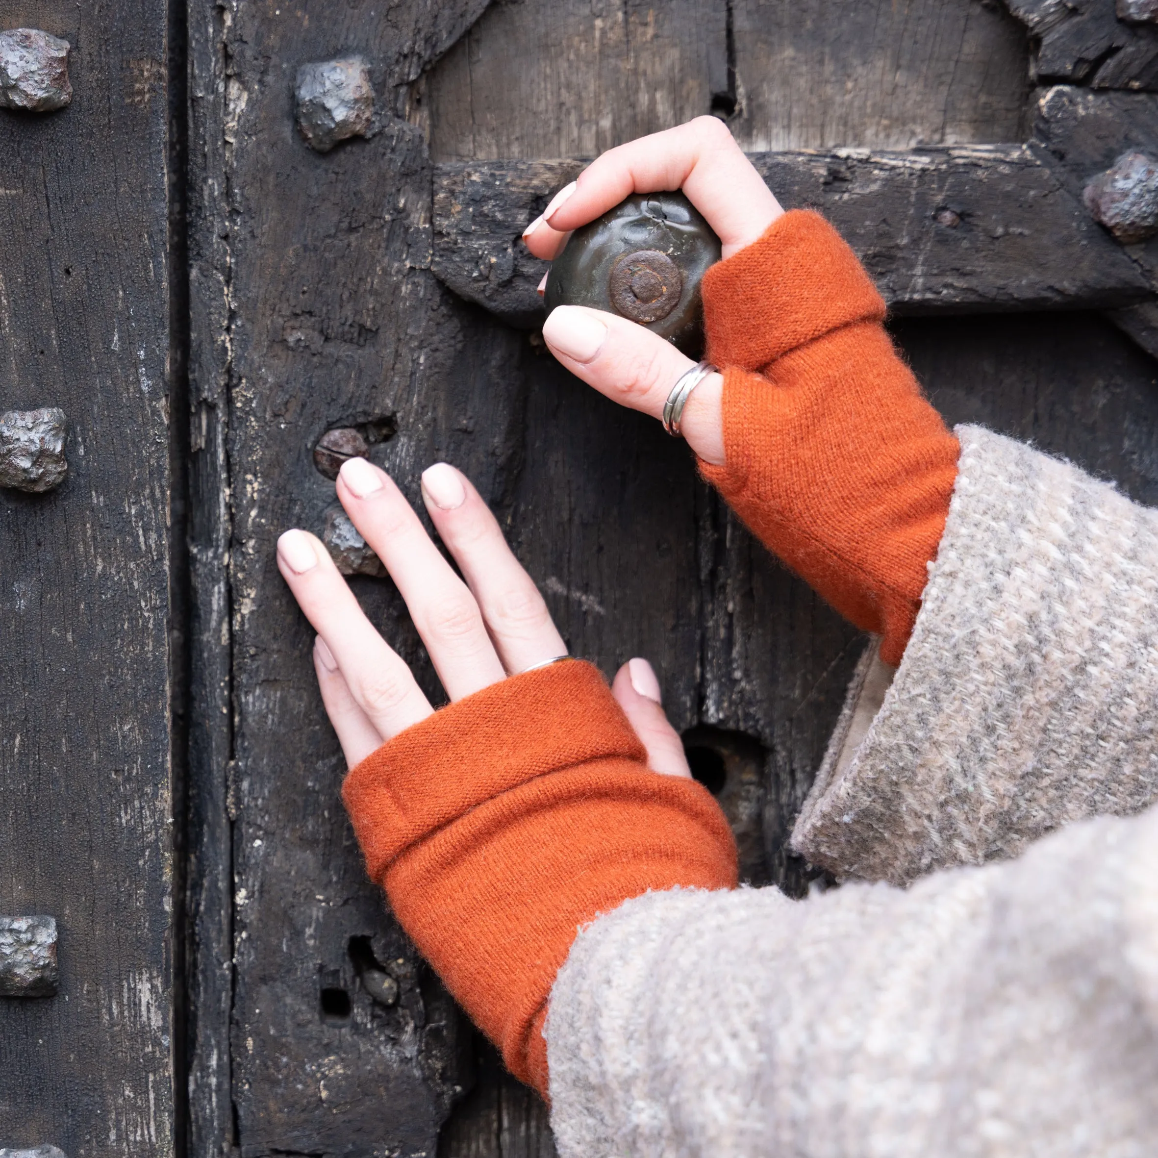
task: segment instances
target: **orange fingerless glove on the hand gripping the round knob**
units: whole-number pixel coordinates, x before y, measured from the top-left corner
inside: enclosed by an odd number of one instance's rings
[[[703,283],[726,464],[701,463],[765,547],[896,665],[945,530],[960,447],[885,332],[885,302],[794,210]]]

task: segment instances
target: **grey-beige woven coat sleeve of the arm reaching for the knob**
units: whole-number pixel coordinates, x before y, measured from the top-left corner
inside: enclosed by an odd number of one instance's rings
[[[792,835],[840,877],[904,884],[1158,799],[1158,512],[957,433],[913,638],[891,686],[862,662]]]

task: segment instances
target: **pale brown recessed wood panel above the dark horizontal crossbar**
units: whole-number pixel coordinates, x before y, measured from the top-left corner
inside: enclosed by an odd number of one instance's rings
[[[1024,135],[1028,41],[981,0],[496,3],[416,94],[434,160],[595,156],[705,112],[745,148]]]

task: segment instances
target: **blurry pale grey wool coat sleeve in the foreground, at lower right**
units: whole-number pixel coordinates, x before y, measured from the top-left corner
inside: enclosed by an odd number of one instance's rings
[[[1158,1153],[1158,812],[908,891],[629,901],[547,1042],[562,1158]]]

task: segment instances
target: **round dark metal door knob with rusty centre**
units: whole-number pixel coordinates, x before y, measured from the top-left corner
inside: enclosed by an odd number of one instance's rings
[[[698,357],[699,283],[719,237],[683,193],[637,193],[577,229],[547,276],[547,308],[621,314]]]

